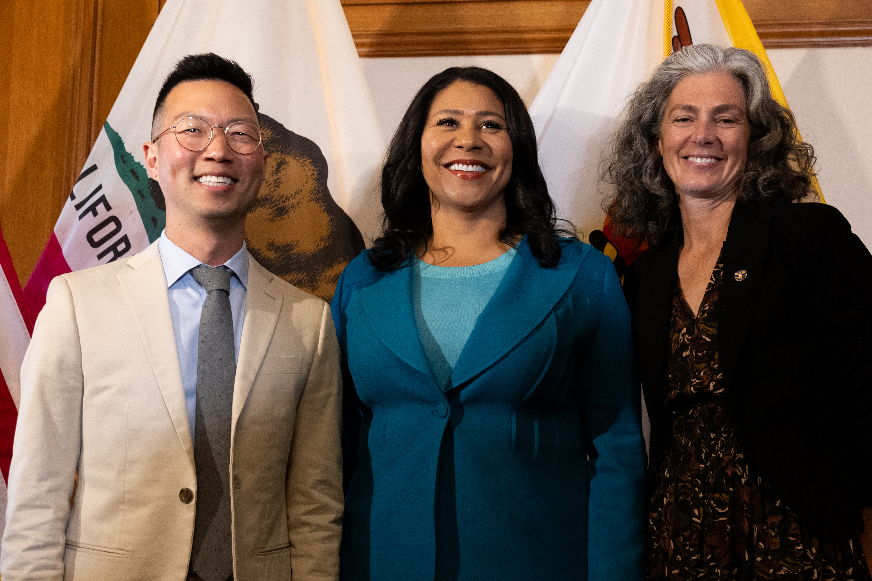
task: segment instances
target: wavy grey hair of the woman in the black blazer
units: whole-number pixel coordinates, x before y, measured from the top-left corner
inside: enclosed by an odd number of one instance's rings
[[[663,239],[678,199],[657,152],[660,127],[675,86],[708,73],[726,73],[745,91],[751,138],[739,201],[755,206],[817,199],[814,149],[799,138],[794,114],[772,97],[760,59],[745,49],[692,44],[664,59],[651,80],[637,87],[612,134],[600,179],[617,189],[603,200],[616,233],[649,246]]]

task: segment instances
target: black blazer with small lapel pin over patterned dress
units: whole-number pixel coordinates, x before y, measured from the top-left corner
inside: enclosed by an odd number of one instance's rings
[[[649,489],[671,440],[683,238],[679,223],[624,277],[651,418]],[[739,445],[814,536],[856,537],[872,506],[872,256],[833,206],[737,203],[722,259],[718,355]]]

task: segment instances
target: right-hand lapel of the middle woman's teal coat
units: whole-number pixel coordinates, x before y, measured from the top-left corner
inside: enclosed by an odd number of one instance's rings
[[[460,352],[451,384],[467,382],[530,334],[566,294],[590,248],[566,245],[556,268],[542,268],[527,239],[521,240],[518,255]]]

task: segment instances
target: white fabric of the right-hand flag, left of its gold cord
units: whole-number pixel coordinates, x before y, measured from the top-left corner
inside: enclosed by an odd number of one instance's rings
[[[651,0],[593,0],[530,105],[548,193],[585,235],[603,227],[603,145],[624,99],[662,59],[662,10]]]

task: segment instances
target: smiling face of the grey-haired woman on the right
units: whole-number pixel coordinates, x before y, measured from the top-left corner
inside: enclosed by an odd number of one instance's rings
[[[672,90],[657,149],[679,199],[716,198],[739,193],[750,138],[739,81],[691,75]]]

